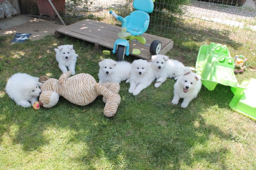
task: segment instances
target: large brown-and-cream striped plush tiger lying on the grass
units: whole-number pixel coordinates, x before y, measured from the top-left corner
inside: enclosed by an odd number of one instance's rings
[[[118,94],[118,83],[99,84],[89,74],[81,73],[70,77],[71,72],[62,74],[59,80],[41,76],[39,82],[41,91],[39,103],[41,106],[50,108],[59,101],[59,95],[71,103],[85,106],[93,102],[97,96],[103,95],[105,108],[103,113],[106,117],[112,117],[117,111],[121,98]]]

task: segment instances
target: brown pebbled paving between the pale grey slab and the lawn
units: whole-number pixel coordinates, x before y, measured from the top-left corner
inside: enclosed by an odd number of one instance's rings
[[[32,34],[29,39],[39,40],[48,34],[54,34],[54,31],[61,27],[63,25],[56,24],[54,21],[29,17],[29,21],[26,23],[0,30],[0,36],[27,33]]]

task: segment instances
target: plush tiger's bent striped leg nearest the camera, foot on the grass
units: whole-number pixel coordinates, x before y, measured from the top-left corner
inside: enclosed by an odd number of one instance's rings
[[[112,117],[117,111],[117,108],[121,102],[121,97],[118,93],[113,93],[108,90],[106,87],[102,86],[99,83],[95,83],[95,90],[98,94],[101,94],[106,98],[106,104],[103,110],[103,113],[106,117]]]

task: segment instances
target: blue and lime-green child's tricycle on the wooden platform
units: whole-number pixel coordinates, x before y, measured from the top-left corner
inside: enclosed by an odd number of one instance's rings
[[[130,15],[125,18],[116,15],[113,11],[109,11],[118,21],[122,22],[121,32],[118,33],[119,39],[114,43],[113,51],[104,50],[103,54],[110,55],[111,53],[116,53],[116,60],[122,61],[124,59],[124,54],[129,55],[139,55],[141,51],[139,49],[133,48],[129,52],[130,42],[138,42],[147,46],[150,46],[150,53],[152,55],[158,54],[161,51],[162,43],[158,40],[154,40],[151,45],[146,44],[146,39],[142,36],[144,32],[147,31],[149,25],[149,15],[154,9],[155,0],[134,0],[133,7],[136,9]]]

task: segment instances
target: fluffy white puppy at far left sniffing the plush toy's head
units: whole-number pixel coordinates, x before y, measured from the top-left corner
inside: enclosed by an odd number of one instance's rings
[[[38,82],[38,79],[26,73],[16,73],[8,79],[5,91],[17,105],[30,107],[41,93],[39,87],[42,83]]]

